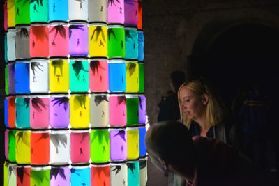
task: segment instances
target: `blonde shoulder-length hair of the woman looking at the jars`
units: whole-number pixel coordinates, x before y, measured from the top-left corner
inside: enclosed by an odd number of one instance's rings
[[[181,105],[180,101],[180,90],[183,86],[187,86],[187,88],[190,89],[190,91],[193,91],[193,93],[197,96],[200,96],[202,98],[202,95],[206,93],[209,95],[209,102],[206,104],[206,118],[205,123],[209,127],[217,125],[223,119],[227,116],[228,110],[225,107],[225,104],[220,97],[220,95],[217,93],[216,89],[213,88],[213,86],[206,80],[204,77],[195,77],[193,79],[189,79],[185,83],[183,83],[178,92],[178,100],[179,100],[179,109]],[[189,127],[191,120],[188,119],[185,114],[180,109],[180,116],[181,116],[181,122]]]

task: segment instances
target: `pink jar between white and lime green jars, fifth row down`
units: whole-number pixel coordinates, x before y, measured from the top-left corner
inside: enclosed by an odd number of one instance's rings
[[[90,160],[89,130],[71,130],[70,160],[73,164],[86,163]]]

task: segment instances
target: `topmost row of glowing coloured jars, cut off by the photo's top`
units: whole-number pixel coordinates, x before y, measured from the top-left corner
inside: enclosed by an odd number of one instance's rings
[[[142,29],[142,0],[8,0],[5,29],[30,22],[84,20],[137,26]]]

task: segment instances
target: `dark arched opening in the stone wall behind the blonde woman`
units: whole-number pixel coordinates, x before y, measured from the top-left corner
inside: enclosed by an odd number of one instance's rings
[[[215,38],[207,38],[206,42],[203,47],[193,48],[192,75],[210,79],[227,106],[240,85],[248,88],[262,82],[269,93],[278,85],[279,32],[276,29],[255,23],[238,24]]]

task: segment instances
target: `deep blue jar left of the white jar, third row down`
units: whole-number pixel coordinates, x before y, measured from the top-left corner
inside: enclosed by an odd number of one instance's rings
[[[15,62],[15,93],[30,93],[29,65],[27,60]]]

